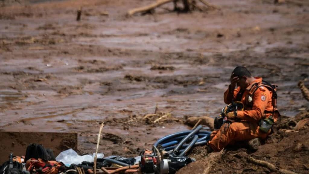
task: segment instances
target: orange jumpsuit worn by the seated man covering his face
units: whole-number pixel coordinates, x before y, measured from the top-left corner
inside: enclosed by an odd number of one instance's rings
[[[252,83],[243,92],[241,102],[246,103],[247,94],[251,87],[262,82],[261,77],[255,77]],[[224,93],[224,102],[230,104],[236,100],[236,95],[240,91],[240,87],[234,89],[229,88]],[[273,111],[272,105],[272,92],[266,87],[260,86],[252,96],[252,108],[251,106],[244,106],[244,111],[237,111],[237,118],[241,119],[240,122],[232,122],[230,125],[223,124],[220,129],[214,131],[210,135],[210,141],[208,145],[215,151],[222,150],[228,144],[233,144],[235,141],[248,141],[253,138],[260,137],[265,139],[268,133],[264,133],[259,130],[259,121],[264,117],[269,117],[271,114],[265,114],[265,111]],[[274,119],[276,122],[277,119]]]

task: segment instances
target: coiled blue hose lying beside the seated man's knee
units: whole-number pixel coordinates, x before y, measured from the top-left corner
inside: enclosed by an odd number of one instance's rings
[[[160,147],[165,151],[172,151],[177,156],[184,156],[193,146],[206,145],[210,138],[210,131],[201,130],[202,125],[194,130],[181,131],[167,135],[155,142],[154,146]],[[184,144],[184,143],[188,144]]]

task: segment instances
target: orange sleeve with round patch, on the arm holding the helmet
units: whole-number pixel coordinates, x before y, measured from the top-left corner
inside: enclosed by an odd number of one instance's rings
[[[268,89],[257,89],[252,97],[252,110],[237,111],[237,118],[258,123],[264,116],[265,108],[268,105],[270,92]]]

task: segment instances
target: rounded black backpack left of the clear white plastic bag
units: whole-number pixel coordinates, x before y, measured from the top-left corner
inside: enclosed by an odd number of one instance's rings
[[[55,161],[53,150],[45,149],[41,144],[29,144],[26,151],[25,161],[28,159],[43,159],[45,161]],[[0,173],[1,174],[1,173]]]

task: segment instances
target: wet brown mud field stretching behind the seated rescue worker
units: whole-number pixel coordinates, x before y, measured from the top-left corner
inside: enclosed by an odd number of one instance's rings
[[[297,86],[309,75],[307,1],[209,0],[221,9],[190,13],[170,3],[126,16],[151,2],[0,1],[0,130],[77,132],[84,154],[105,122],[99,151],[133,157],[189,129],[188,116],[217,116],[238,65],[279,86],[281,115],[308,110]]]

